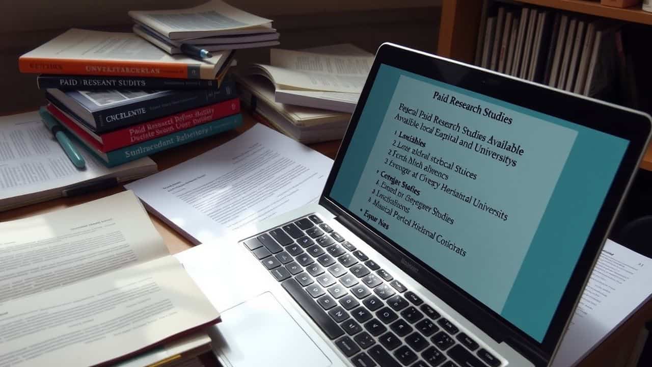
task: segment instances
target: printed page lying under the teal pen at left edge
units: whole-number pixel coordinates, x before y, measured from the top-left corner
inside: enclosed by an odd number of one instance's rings
[[[77,148],[86,161],[83,170],[72,165],[38,112],[0,117],[0,210],[39,201],[37,198],[60,197],[63,187],[96,178],[128,179],[156,172],[156,163],[149,158],[106,168]]]

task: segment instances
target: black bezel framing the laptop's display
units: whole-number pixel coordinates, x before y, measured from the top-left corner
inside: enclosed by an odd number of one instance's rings
[[[395,244],[387,236],[366,225],[366,223],[358,219],[357,215],[330,197],[331,189],[342,165],[342,159],[344,159],[351,142],[353,132],[357,127],[381,64],[413,72],[426,78],[452,84],[458,88],[501,99],[507,103],[516,104],[629,140],[630,143],[614,176],[614,181],[589,232],[584,249],[542,342],[538,342],[523,330],[512,325],[507,319],[490,310],[479,300],[447,280],[445,276],[437,273],[408,253],[408,251]],[[627,121],[627,123],[623,123],[624,121]],[[334,212],[342,222],[350,223],[350,227],[358,231],[358,234],[369,242],[374,249],[419,281],[421,285],[432,291],[466,319],[481,328],[494,340],[509,343],[537,366],[545,365],[550,360],[561,334],[567,326],[580,292],[584,288],[591,268],[602,249],[614,215],[621,204],[621,193],[627,191],[632,179],[632,173],[638,168],[638,162],[649,140],[650,130],[649,117],[640,112],[615,108],[613,105],[594,99],[579,97],[557,89],[498,74],[497,72],[486,71],[458,61],[415,52],[415,50],[386,43],[378,49],[319,203]]]

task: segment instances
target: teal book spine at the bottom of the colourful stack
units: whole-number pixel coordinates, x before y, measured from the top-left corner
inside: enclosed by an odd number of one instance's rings
[[[113,150],[106,153],[106,159],[104,159],[104,161],[108,167],[121,165],[133,161],[134,159],[147,157],[156,152],[187,144],[207,136],[222,133],[223,131],[235,129],[242,124],[242,121],[242,115],[236,114],[220,120],[203,123],[196,127],[191,127],[190,129],[178,131],[177,133],[147,140],[147,142],[128,146],[119,150]]]

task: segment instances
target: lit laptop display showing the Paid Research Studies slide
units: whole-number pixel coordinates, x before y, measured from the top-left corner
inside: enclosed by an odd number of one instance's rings
[[[627,145],[381,64],[328,196],[542,342]]]

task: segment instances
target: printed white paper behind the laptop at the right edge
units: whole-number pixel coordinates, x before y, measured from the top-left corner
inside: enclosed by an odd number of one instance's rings
[[[574,366],[652,295],[652,259],[607,240],[553,367]]]

